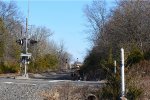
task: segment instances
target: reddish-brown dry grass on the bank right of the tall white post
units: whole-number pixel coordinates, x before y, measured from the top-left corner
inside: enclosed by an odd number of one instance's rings
[[[132,78],[130,84],[143,90],[139,100],[150,100],[150,61],[133,65],[127,74]]]

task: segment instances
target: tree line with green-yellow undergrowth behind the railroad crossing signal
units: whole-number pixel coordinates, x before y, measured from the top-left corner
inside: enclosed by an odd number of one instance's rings
[[[16,43],[25,35],[26,23],[15,1],[0,1],[0,73],[20,72],[20,53],[23,47]],[[32,25],[28,28],[30,39],[38,41],[28,46],[32,53],[29,72],[44,72],[63,69],[66,59],[71,60],[64,43],[50,39],[53,32],[45,26]]]

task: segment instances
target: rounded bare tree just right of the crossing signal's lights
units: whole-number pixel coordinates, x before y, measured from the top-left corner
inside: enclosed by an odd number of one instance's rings
[[[33,26],[29,33],[30,39],[38,41],[35,46],[33,46],[32,44],[30,45],[30,51],[32,51],[33,56],[36,58],[38,56],[49,53],[48,47],[50,46],[48,43],[48,39],[53,34],[51,30],[47,29],[46,27]]]

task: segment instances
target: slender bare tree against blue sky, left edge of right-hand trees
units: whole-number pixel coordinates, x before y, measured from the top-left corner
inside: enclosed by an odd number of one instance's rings
[[[89,27],[91,27],[91,39],[95,44],[97,44],[97,40],[103,39],[103,28],[107,20],[106,3],[104,0],[94,0],[91,6],[86,6],[84,12],[90,24]]]

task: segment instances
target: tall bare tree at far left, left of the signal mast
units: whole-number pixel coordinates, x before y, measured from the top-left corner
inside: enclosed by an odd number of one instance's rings
[[[3,61],[17,61],[19,46],[16,45],[16,37],[20,34],[22,17],[16,3],[0,1],[0,18],[5,28],[5,36],[1,35],[4,41]],[[10,49],[11,48],[11,49]]]

